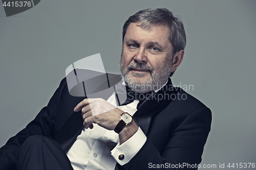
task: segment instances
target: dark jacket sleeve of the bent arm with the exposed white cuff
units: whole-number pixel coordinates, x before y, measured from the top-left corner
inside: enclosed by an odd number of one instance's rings
[[[184,118],[162,143],[165,145],[162,152],[156,149],[155,141],[147,138],[141,150],[121,169],[197,169],[210,124],[210,109],[197,109]]]

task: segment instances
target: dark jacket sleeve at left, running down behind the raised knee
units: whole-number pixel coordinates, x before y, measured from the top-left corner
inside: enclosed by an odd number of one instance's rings
[[[28,137],[33,135],[44,135],[50,138],[53,137],[56,112],[60,103],[61,93],[65,85],[66,79],[63,79],[47,107],[42,108],[35,119],[32,120],[25,129],[11,137],[0,149],[0,169],[16,169],[15,156],[20,146]]]

